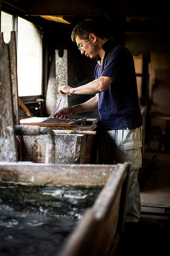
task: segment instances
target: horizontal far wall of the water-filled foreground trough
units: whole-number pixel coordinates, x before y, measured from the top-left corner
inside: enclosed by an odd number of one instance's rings
[[[122,164],[119,166],[121,168]],[[101,186],[115,168],[117,166],[99,164],[0,162],[0,177],[2,182]]]

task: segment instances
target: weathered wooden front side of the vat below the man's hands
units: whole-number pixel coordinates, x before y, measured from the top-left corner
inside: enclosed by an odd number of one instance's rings
[[[55,133],[55,130],[53,131]],[[48,142],[46,135],[22,136],[21,142],[22,160],[45,163],[45,148]],[[97,148],[95,135],[55,133],[55,145],[57,164],[96,163]]]

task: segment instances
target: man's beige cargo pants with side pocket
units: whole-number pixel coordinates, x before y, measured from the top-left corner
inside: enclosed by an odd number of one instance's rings
[[[126,222],[140,218],[140,191],[138,170],[142,167],[142,127],[128,130],[101,129],[99,132],[98,160],[100,164],[130,163],[131,182],[127,198]]]

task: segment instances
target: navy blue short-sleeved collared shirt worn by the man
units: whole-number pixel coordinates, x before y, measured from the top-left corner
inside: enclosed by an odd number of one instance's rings
[[[105,57],[102,66],[96,65],[94,77],[108,76],[114,80],[107,90],[99,93],[99,119],[107,130],[140,127],[142,115],[134,59],[126,47],[117,45],[113,39],[107,40],[102,48]]]

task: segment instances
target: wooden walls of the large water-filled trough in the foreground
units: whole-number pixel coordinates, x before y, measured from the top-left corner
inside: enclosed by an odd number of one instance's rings
[[[123,232],[128,164],[0,163],[1,183],[101,187],[101,193],[62,246],[60,256],[113,255]]]

